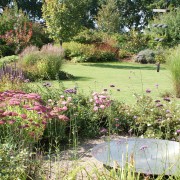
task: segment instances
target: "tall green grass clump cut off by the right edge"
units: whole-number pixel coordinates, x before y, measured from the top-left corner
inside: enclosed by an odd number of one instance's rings
[[[168,67],[172,74],[176,97],[180,98],[180,45],[168,56]]]

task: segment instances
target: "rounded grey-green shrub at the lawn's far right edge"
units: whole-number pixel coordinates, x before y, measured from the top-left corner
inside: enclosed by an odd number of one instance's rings
[[[140,51],[135,61],[142,64],[155,63],[155,53],[151,49]]]

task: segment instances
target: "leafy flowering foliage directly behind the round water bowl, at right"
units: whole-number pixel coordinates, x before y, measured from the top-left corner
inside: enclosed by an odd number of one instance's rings
[[[137,100],[129,112],[134,115],[132,132],[148,138],[178,140],[176,131],[180,128],[180,113],[179,105],[173,99],[165,97],[153,101],[149,96],[137,96]]]

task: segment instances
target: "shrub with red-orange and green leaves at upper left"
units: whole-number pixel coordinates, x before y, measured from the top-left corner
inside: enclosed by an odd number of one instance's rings
[[[5,55],[7,49],[4,49],[4,46],[10,45],[15,52],[18,52],[29,42],[32,36],[31,23],[21,10],[18,11],[16,4],[13,8],[5,8],[0,16],[0,34],[1,51]]]

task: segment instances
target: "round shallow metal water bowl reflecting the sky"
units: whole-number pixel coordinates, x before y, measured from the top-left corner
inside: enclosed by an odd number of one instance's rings
[[[180,173],[180,143],[175,141],[122,138],[95,146],[92,155],[106,166],[116,163],[124,167],[128,163],[144,174]]]

